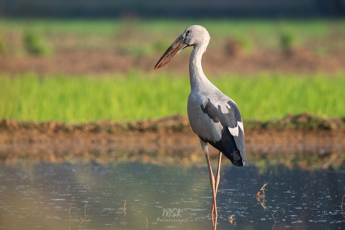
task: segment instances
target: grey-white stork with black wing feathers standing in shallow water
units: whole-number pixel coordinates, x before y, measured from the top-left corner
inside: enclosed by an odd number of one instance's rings
[[[189,60],[190,94],[187,112],[192,130],[198,135],[206,156],[212,207],[217,217],[216,194],[219,184],[219,170],[222,153],[238,167],[248,166],[244,143],[243,122],[235,101],[222,93],[205,76],[201,57],[206,51],[210,36],[205,27],[194,25],[185,29],[159,59],[154,69],[171,61],[182,49],[193,46]],[[218,168],[214,177],[208,156],[208,143],[219,150]]]

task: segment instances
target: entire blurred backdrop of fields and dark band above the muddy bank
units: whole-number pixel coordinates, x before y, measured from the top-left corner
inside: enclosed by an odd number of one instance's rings
[[[211,36],[206,76],[245,120],[345,116],[344,0],[0,0],[0,15],[0,118],[186,115],[190,50],[153,67],[191,24]]]

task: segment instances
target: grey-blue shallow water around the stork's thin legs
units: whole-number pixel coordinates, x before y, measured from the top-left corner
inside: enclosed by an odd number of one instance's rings
[[[1,165],[0,228],[212,229],[207,167]],[[265,199],[259,202],[255,195],[265,181]],[[262,172],[253,164],[222,165],[217,229],[345,229],[344,194],[344,168],[303,171],[278,165]],[[233,223],[227,220],[231,215]]]

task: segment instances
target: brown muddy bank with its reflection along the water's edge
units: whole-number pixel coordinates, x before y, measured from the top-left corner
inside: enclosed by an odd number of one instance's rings
[[[316,118],[308,114],[267,122],[247,122],[245,140],[249,160],[272,158],[301,167],[328,167],[345,163],[345,119]],[[217,150],[211,147],[211,157]],[[0,121],[0,159],[63,161],[163,161],[198,163],[204,158],[198,137],[187,117],[90,124]],[[312,161],[312,162],[311,162]]]

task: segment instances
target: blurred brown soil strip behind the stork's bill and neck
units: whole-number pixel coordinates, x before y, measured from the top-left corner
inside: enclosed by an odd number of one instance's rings
[[[32,71],[45,76],[56,73],[76,75],[126,73],[133,69],[150,72],[153,71],[161,54],[135,57],[97,50],[58,52],[51,57],[0,54],[0,73],[20,74]],[[289,55],[274,50],[254,50],[248,54],[232,54],[226,49],[208,50],[203,56],[203,69],[213,76],[224,73],[253,75],[258,72],[335,74],[345,71],[344,60],[344,52],[317,55],[308,49],[296,49]],[[189,55],[186,53],[175,58],[164,68],[177,74],[188,74],[188,63]]]

